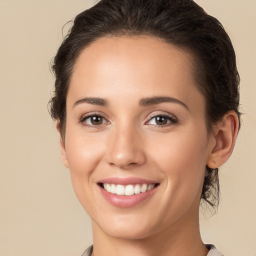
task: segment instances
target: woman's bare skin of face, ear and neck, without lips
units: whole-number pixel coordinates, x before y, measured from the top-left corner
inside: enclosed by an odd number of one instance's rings
[[[198,223],[205,166],[215,168],[230,156],[238,121],[229,111],[207,134],[192,66],[189,53],[146,36],[101,38],[79,55],[60,146],[76,196],[92,219],[94,255],[207,254]],[[140,104],[156,96],[182,103]],[[95,114],[103,117],[99,125],[83,118]],[[156,125],[155,116],[162,115],[170,119]],[[101,195],[100,179],[131,176],[159,185],[132,207],[113,206]]]

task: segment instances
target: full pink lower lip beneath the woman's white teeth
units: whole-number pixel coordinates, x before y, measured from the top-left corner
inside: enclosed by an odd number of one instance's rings
[[[104,198],[111,203],[112,205],[120,208],[127,208],[135,206],[142,201],[146,200],[149,196],[151,196],[155,190],[156,187],[145,191],[143,193],[139,194],[132,194],[132,195],[118,195],[118,194],[112,194],[110,192],[107,192],[104,188],[99,186],[101,194],[104,196]]]

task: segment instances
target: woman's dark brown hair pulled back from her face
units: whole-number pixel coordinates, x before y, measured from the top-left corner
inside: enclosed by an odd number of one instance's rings
[[[191,53],[195,79],[205,100],[208,133],[228,110],[239,113],[239,74],[230,38],[220,22],[192,0],[100,0],[79,13],[52,64],[55,90],[51,117],[65,135],[66,95],[79,53],[107,36],[149,35]],[[219,201],[218,169],[206,166],[201,199]]]

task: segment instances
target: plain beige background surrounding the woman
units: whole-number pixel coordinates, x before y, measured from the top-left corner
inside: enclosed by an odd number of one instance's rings
[[[62,25],[92,0],[0,0],[0,255],[79,255],[90,220],[60,159],[47,112],[49,61]],[[205,242],[226,256],[255,256],[256,0],[196,0],[227,28],[241,75],[243,125],[220,170],[222,202],[200,218]]]

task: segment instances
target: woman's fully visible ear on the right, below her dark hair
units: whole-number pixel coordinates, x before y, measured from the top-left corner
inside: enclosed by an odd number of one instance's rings
[[[217,168],[231,155],[238,133],[238,117],[235,111],[225,113],[220,122],[214,127],[211,153],[207,160],[209,168]]]

